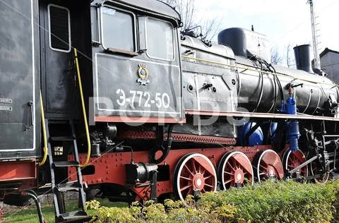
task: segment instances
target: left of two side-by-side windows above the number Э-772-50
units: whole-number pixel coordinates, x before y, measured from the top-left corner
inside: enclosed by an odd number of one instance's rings
[[[102,7],[102,44],[105,49],[136,52],[133,13]]]

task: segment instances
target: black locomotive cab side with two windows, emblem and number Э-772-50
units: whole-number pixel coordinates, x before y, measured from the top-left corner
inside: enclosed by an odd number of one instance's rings
[[[89,107],[94,114],[90,119],[181,121],[179,15],[158,1],[93,1],[91,20],[93,85],[88,88],[93,89]]]

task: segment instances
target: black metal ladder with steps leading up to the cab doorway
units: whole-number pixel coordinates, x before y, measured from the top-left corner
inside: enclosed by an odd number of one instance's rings
[[[83,189],[83,177],[81,174],[81,167],[78,157],[78,146],[76,143],[76,132],[73,120],[66,121],[54,121],[49,119],[45,120],[47,145],[49,154],[49,169],[51,171],[51,183],[52,193],[54,200],[55,222],[88,222],[92,217],[88,216],[85,212],[85,191]],[[71,135],[68,136],[51,136],[49,135],[49,123],[66,123],[71,128]],[[54,161],[54,151],[51,147],[51,142],[73,142],[71,147],[73,148],[74,161]],[[57,183],[55,179],[55,170],[61,168],[76,168],[77,181],[68,182],[67,179]],[[74,212],[66,212],[66,205],[64,202],[64,192],[78,191],[79,193],[79,209]]]

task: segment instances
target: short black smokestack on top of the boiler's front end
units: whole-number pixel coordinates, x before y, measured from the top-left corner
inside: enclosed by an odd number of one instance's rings
[[[295,51],[295,63],[297,64],[297,69],[311,73],[311,45],[300,45],[293,48],[293,50]]]

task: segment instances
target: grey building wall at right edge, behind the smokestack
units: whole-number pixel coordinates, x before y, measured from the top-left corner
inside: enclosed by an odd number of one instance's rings
[[[328,74],[328,78],[339,84],[339,54],[328,52],[321,56],[321,69]]]

